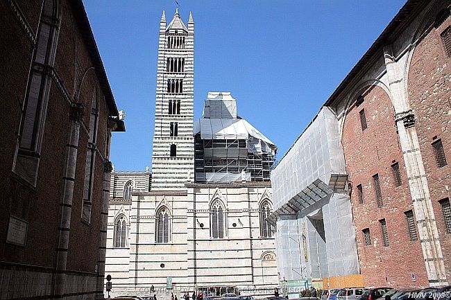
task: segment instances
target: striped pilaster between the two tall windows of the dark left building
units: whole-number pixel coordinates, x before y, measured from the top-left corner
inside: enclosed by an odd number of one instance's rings
[[[80,135],[80,123],[85,112],[81,103],[74,103],[70,112],[70,135],[67,143],[66,170],[64,191],[60,202],[60,226],[58,227],[58,248],[56,248],[56,275],[53,295],[56,299],[62,299],[66,287],[67,249],[69,247],[69,231],[71,227],[72,198],[74,197],[75,170],[78,152],[78,137]]]

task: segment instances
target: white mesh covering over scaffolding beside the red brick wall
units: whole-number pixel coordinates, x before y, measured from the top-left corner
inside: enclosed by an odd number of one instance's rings
[[[330,188],[331,176],[337,174],[346,174],[339,125],[334,113],[323,107],[271,173],[281,276],[359,274],[350,199]],[[296,223],[287,220],[287,213]],[[291,242],[291,226],[297,231],[297,245]]]

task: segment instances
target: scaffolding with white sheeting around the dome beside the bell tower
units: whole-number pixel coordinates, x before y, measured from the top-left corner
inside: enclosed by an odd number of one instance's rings
[[[194,123],[196,182],[269,182],[277,148],[237,115],[229,92],[210,92]]]

